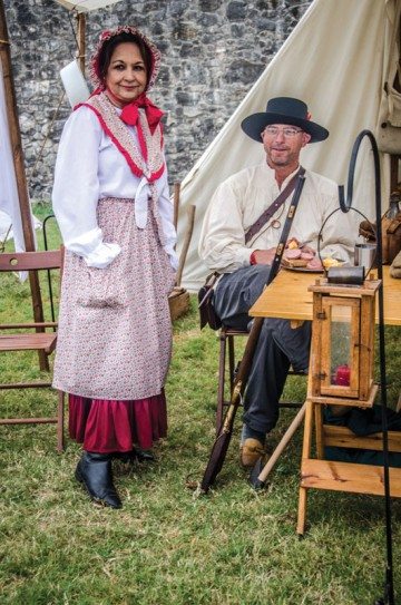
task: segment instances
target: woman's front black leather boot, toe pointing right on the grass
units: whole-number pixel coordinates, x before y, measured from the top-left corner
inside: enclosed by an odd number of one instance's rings
[[[111,508],[121,508],[120,497],[113,482],[110,453],[84,451],[76,469],[76,479],[85,485],[92,500]]]

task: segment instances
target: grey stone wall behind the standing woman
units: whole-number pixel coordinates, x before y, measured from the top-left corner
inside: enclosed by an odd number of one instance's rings
[[[88,55],[102,29],[121,23],[139,27],[162,50],[150,96],[166,113],[170,183],[184,178],[311,1],[121,0],[87,16]],[[70,113],[60,103],[59,70],[76,56],[76,20],[52,0],[4,6],[30,194],[48,199]]]

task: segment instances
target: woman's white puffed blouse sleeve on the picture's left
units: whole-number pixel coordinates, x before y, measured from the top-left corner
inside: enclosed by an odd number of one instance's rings
[[[104,269],[120,253],[120,246],[102,241],[96,217],[100,140],[96,115],[87,107],[74,111],[58,149],[52,207],[66,248],[82,256],[88,266]]]

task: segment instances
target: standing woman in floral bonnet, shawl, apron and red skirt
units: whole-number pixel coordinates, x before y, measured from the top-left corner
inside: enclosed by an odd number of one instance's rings
[[[176,234],[163,113],[146,96],[159,61],[136,28],[101,33],[96,90],[66,123],[52,193],[66,246],[53,387],[84,443],[76,478],[113,508],[113,458],[153,458],[167,430]]]

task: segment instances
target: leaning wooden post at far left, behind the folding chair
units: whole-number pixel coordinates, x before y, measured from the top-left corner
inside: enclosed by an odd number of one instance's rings
[[[21,133],[18,121],[18,110],[16,100],[16,89],[12,77],[10,41],[7,30],[6,10],[3,0],[0,0],[0,60],[3,72],[7,120],[10,131],[10,143],[12,159],[16,170],[17,192],[21,213],[23,241],[27,252],[35,251],[35,237],[31,223],[31,209],[28,196],[28,185],[25,172]],[[29,272],[29,283],[32,296],[33,318],[36,322],[43,321],[43,308],[40,295],[39,277],[37,272]],[[48,370],[49,363],[46,355],[39,353],[39,364],[41,370]]]

